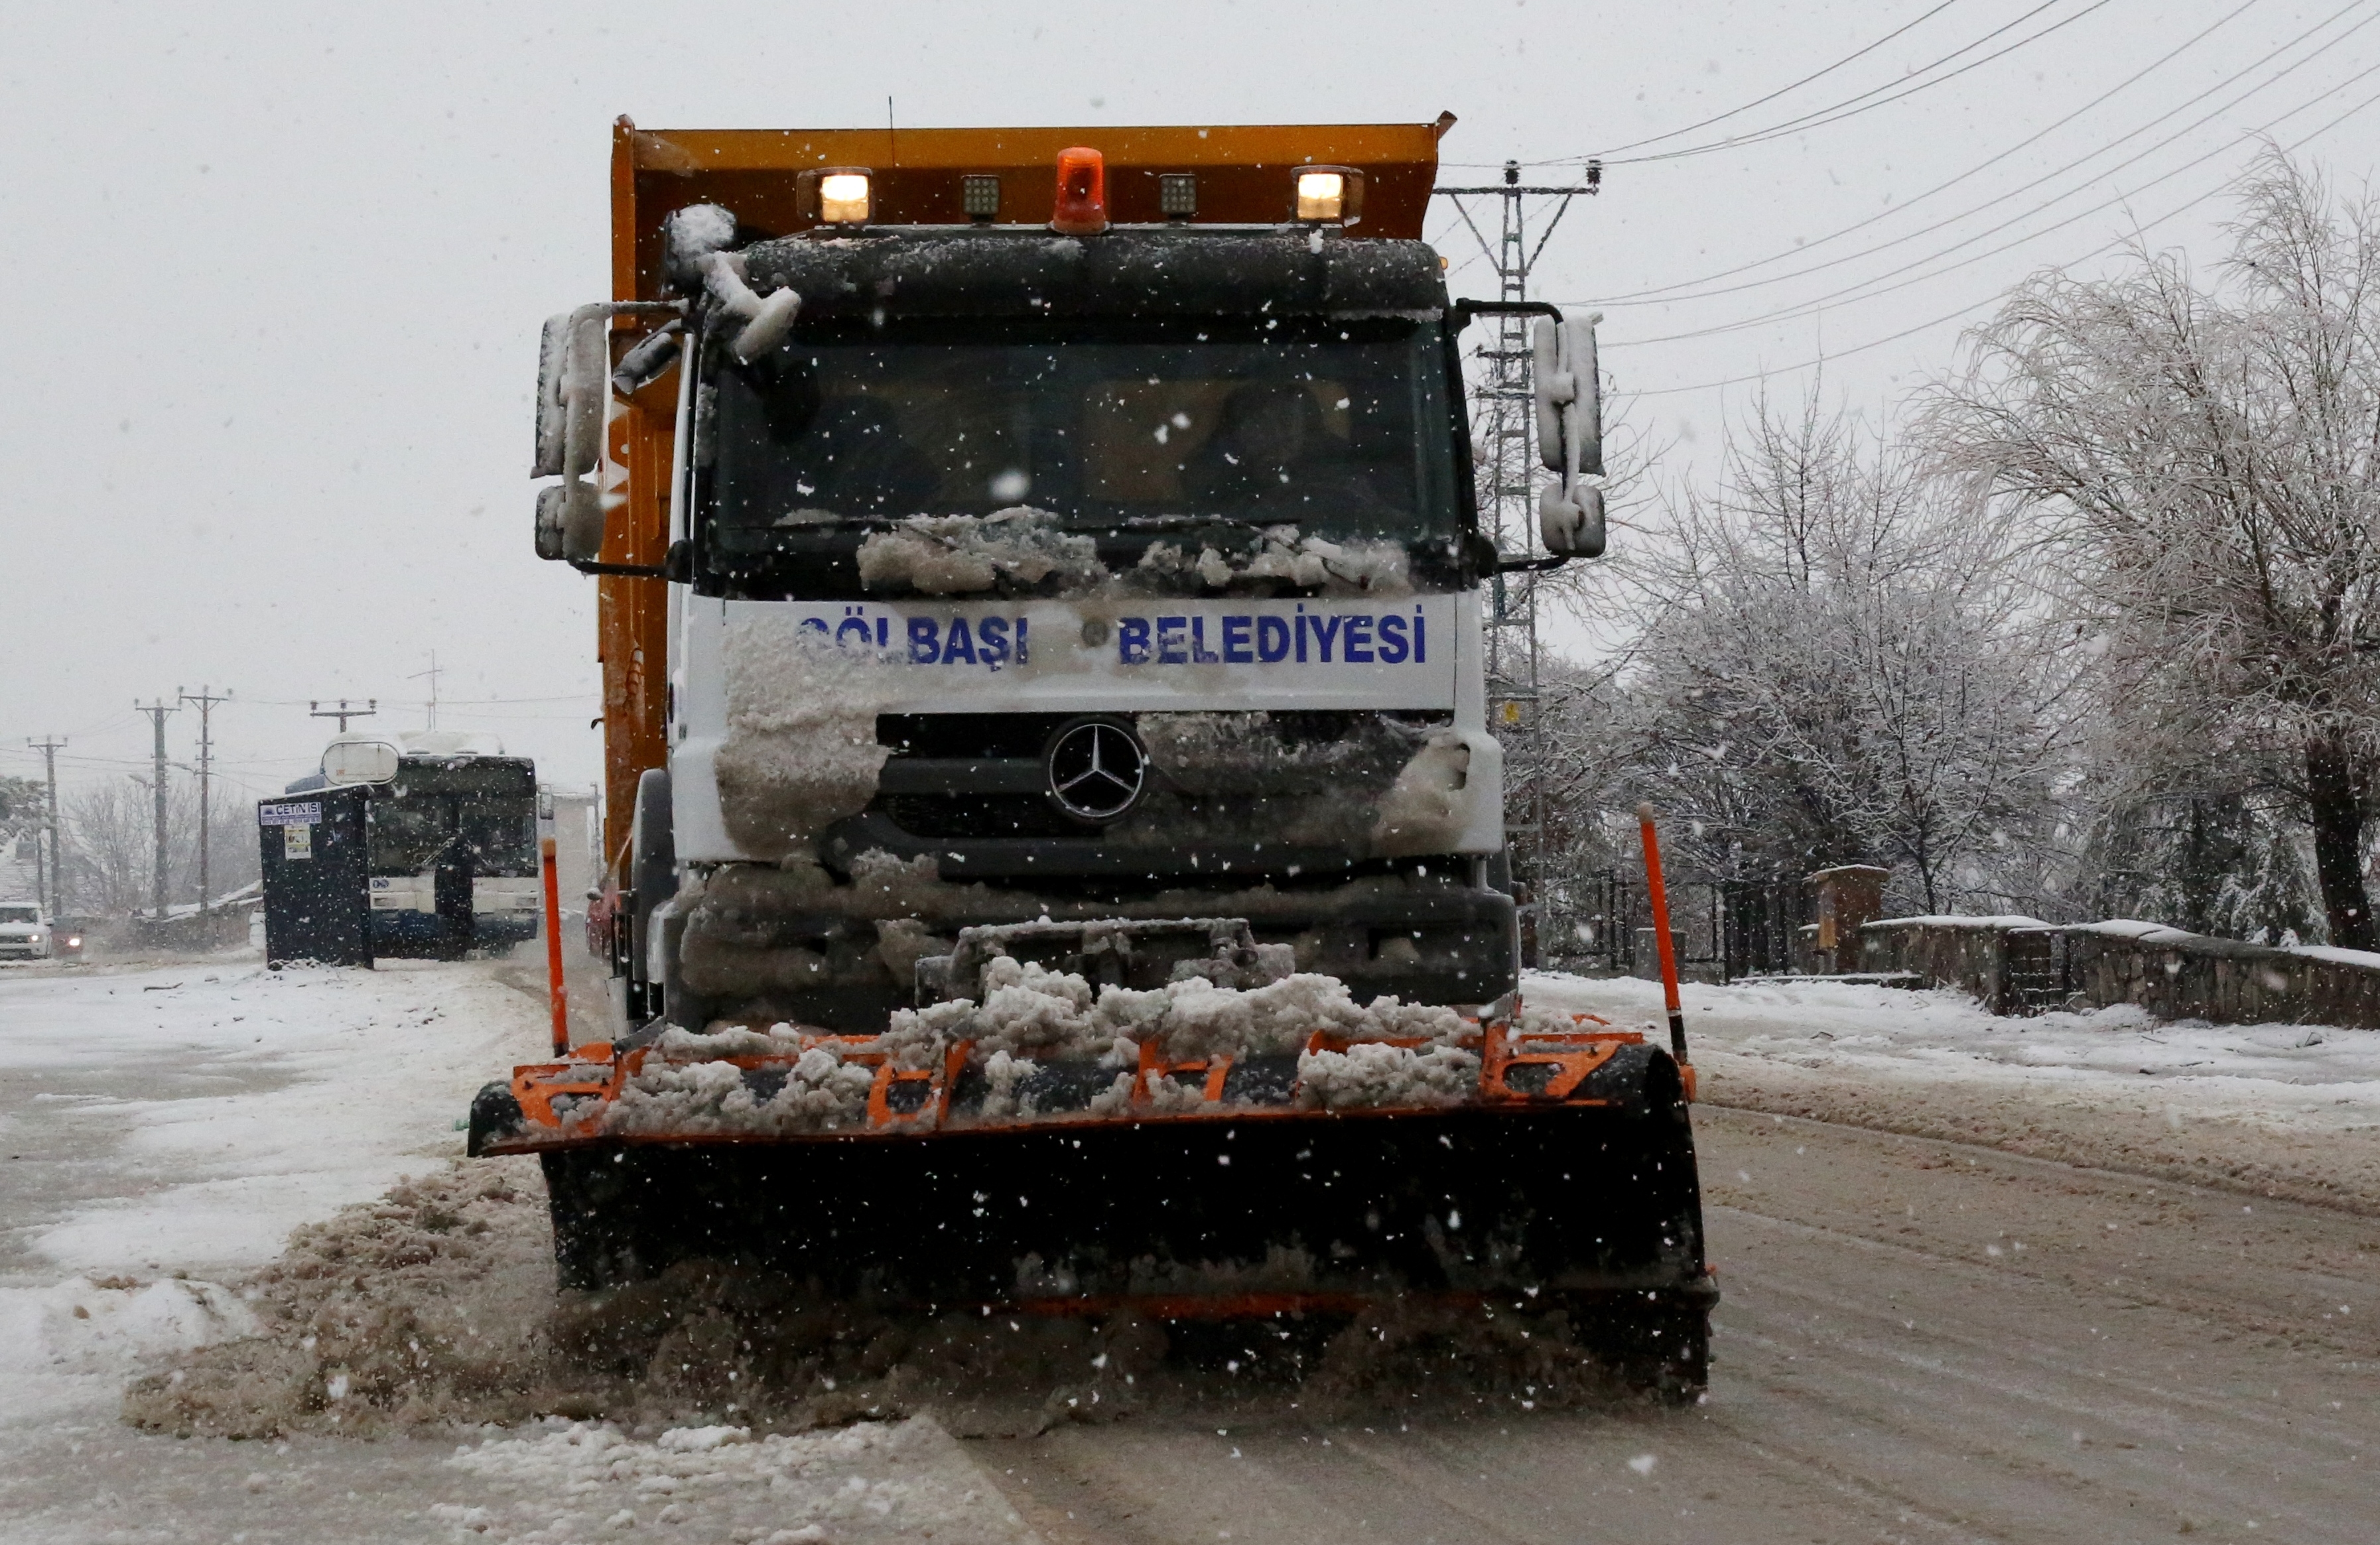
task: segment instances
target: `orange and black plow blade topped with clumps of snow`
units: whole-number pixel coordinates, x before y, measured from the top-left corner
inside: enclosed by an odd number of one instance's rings
[[[664,1031],[521,1067],[471,1152],[543,1157],[564,1288],[702,1257],[1038,1314],[1526,1293],[1699,1331],[1716,1300],[1680,1071],[1633,1031],[957,959],[978,997],[885,1036]]]

